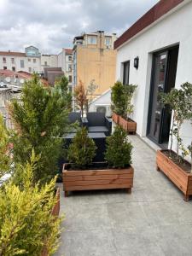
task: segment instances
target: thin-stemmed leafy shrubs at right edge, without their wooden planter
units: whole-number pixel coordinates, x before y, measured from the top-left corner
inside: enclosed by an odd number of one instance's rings
[[[177,140],[177,161],[180,162],[182,158],[179,155],[179,149],[182,151],[183,158],[189,154],[183,146],[180,130],[184,120],[192,119],[192,84],[184,83],[179,90],[174,88],[169,93],[161,94],[160,101],[173,111],[171,149],[174,136]]]

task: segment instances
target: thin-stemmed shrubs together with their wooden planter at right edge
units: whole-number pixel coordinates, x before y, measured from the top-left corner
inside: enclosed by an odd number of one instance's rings
[[[191,165],[185,156],[191,155],[191,145],[185,148],[181,137],[181,127],[184,120],[192,118],[192,84],[185,83],[181,89],[172,89],[170,93],[161,95],[161,102],[168,104],[172,110],[172,128],[170,133],[170,148],[158,150],[156,156],[157,170],[162,171],[175,183],[184,194],[184,200],[192,195]],[[172,150],[173,139],[176,140],[176,152]]]

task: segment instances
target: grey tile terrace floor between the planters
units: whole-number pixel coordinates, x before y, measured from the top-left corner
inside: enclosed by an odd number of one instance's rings
[[[55,256],[192,255],[192,201],[161,172],[155,152],[137,136],[131,195],[122,189],[82,191],[64,198],[61,246]]]

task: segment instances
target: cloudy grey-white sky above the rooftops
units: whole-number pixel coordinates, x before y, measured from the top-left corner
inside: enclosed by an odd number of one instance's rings
[[[44,54],[73,46],[82,32],[120,36],[158,0],[0,0],[0,50]]]

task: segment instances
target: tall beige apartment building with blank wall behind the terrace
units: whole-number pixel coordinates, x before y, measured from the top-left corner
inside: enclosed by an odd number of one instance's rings
[[[115,82],[116,50],[113,43],[116,34],[103,31],[84,33],[73,39],[73,86],[81,80],[85,88],[96,88],[94,96],[100,96]]]

